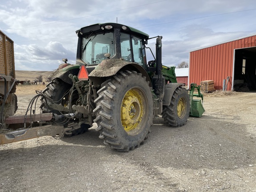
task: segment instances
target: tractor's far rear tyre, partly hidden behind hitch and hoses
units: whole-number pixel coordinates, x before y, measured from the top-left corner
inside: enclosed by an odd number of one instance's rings
[[[71,84],[65,83],[63,80],[61,79],[53,79],[50,83],[48,83],[46,85],[46,88],[43,91],[43,94],[49,98],[51,98],[51,101],[48,100],[47,102],[54,102],[55,104],[61,104],[64,107],[67,106],[68,104],[68,96],[69,96],[69,90],[72,88]],[[76,95],[73,96],[74,99],[77,99]],[[45,100],[42,101],[42,105],[41,108],[44,112],[52,112],[55,113],[57,115],[65,114],[67,112],[63,112],[63,111],[58,111],[56,109],[52,109],[50,107],[47,108]],[[60,123],[63,120],[59,120],[57,121],[57,123]],[[88,131],[88,128],[90,128],[91,126],[88,124],[82,124],[81,128],[78,128],[76,130],[70,131],[72,132],[72,134],[70,135],[65,135],[65,136],[74,136],[74,135],[78,135],[78,134],[82,134],[86,131]]]

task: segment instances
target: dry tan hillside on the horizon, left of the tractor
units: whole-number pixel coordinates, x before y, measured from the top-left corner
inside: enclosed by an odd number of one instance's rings
[[[42,75],[43,80],[46,80],[52,71],[21,71],[15,70],[16,80],[36,80],[37,76]]]

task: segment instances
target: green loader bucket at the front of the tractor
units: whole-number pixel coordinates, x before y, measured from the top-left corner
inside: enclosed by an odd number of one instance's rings
[[[190,112],[189,112],[189,116],[193,116],[193,117],[201,117],[203,115],[203,113],[205,112],[204,107],[203,107],[203,102],[204,102],[204,96],[203,94],[200,92],[200,85],[197,84],[190,84],[190,92],[189,92],[189,96],[190,96]],[[195,89],[197,89],[197,94],[194,94]],[[200,97],[200,100],[194,100],[193,97]]]

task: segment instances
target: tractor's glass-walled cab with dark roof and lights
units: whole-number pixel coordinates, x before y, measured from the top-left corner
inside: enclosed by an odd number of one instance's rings
[[[100,64],[103,60],[124,60],[146,68],[145,39],[148,34],[125,25],[94,24],[76,31],[77,64]]]

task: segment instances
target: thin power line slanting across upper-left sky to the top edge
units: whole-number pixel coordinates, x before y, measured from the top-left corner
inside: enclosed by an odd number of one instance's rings
[[[123,11],[123,10],[131,9],[131,8],[138,8],[138,7],[142,7],[142,6],[149,5],[149,4],[156,4],[156,3],[163,2],[163,1],[167,1],[167,0],[156,1],[156,2],[153,2],[153,3],[148,3],[148,4],[138,5],[138,6],[135,6],[135,7],[123,8],[123,9],[118,9],[118,10],[111,11],[111,12],[104,12],[104,13],[99,13],[99,14],[96,14],[96,15],[90,15],[90,16],[84,16],[84,17],[78,17],[78,18],[69,19],[69,20],[56,21],[56,22],[52,22],[52,23],[40,24],[40,25],[34,25],[34,26],[30,26],[30,27],[25,27],[25,28],[8,29],[8,30],[6,30],[6,31],[16,31],[16,30],[20,30],[20,29],[26,29],[26,28],[39,27],[39,26],[48,25],[48,24],[56,24],[56,23],[61,23],[61,22],[65,22],[65,21],[70,21],[70,20],[78,20],[78,19],[83,19],[83,18],[86,18],[86,17],[98,16],[98,15],[102,15],[102,14],[107,14],[107,13],[112,13],[112,12]]]

